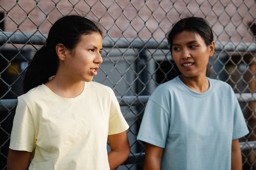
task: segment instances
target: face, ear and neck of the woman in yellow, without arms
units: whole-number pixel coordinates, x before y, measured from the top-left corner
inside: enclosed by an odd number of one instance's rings
[[[63,44],[56,46],[59,67],[55,77],[45,83],[55,94],[64,98],[74,98],[81,94],[84,82],[93,80],[102,63],[102,37],[100,33],[82,35],[75,49],[67,49]]]

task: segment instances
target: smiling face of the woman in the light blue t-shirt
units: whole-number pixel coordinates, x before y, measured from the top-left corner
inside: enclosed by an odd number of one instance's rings
[[[205,77],[213,53],[214,42],[207,46],[197,33],[182,31],[173,37],[172,57],[183,77]]]

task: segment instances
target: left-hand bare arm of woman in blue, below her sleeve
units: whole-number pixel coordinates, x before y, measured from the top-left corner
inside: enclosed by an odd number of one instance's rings
[[[146,153],[144,170],[160,170],[163,148],[145,142],[144,149]]]

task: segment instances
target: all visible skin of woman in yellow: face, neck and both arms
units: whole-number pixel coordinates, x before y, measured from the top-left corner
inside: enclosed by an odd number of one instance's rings
[[[93,32],[82,35],[75,49],[69,50],[63,44],[56,45],[59,67],[55,77],[45,83],[55,94],[64,98],[74,98],[81,94],[84,82],[93,80],[102,63],[102,37]],[[111,151],[108,153],[110,169],[122,164],[129,156],[130,147],[126,131],[108,136]],[[7,169],[25,170],[31,152],[9,150]]]

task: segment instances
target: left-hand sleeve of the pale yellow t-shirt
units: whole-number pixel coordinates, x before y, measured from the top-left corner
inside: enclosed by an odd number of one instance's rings
[[[9,148],[28,152],[32,152],[35,148],[33,119],[27,104],[21,97],[18,97]]]

